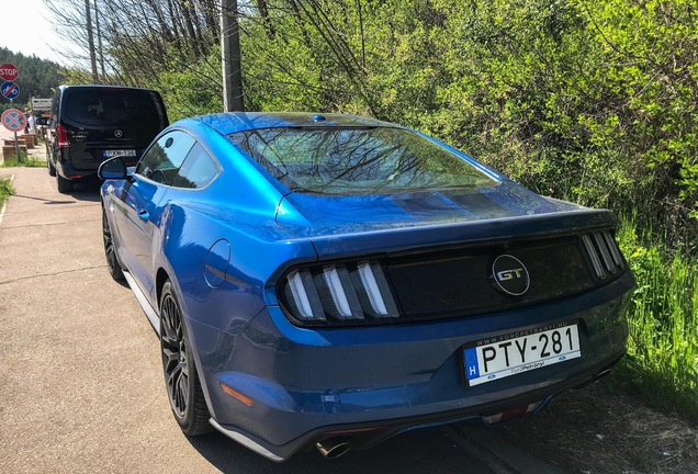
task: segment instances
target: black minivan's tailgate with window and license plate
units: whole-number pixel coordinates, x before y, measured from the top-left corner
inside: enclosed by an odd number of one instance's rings
[[[153,90],[67,88],[60,125],[70,144],[71,166],[97,170],[112,156],[135,165],[153,138],[168,125],[160,95]]]

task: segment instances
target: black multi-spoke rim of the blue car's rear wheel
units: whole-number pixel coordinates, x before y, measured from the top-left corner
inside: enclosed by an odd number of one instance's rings
[[[174,415],[184,418],[189,402],[189,363],[179,307],[172,295],[162,300],[160,308],[162,366],[170,405]]]

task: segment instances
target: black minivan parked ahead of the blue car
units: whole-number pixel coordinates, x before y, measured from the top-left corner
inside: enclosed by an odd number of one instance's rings
[[[153,138],[169,125],[162,98],[150,89],[60,86],[54,95],[46,161],[58,191],[97,173],[114,156],[134,166]]]

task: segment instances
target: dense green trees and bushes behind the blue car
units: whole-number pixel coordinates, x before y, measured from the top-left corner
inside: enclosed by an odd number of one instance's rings
[[[66,2],[74,8],[61,18],[86,45],[85,9]],[[223,19],[239,27],[240,66],[224,56],[249,110],[398,122],[541,193],[637,207],[689,241],[698,235],[693,3],[232,2],[236,13]],[[108,81],[159,89],[174,116],[223,108],[221,32],[237,30],[221,29],[219,2],[113,0],[100,12]]]

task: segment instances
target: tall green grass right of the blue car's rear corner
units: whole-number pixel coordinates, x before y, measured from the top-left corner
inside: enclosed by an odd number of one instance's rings
[[[698,422],[698,258],[652,229],[638,235],[633,216],[619,222],[617,237],[638,286],[628,312],[628,357],[613,381]]]

